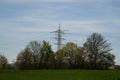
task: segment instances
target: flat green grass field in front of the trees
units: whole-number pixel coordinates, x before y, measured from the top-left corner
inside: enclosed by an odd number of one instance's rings
[[[120,80],[120,70],[1,70],[0,80]]]

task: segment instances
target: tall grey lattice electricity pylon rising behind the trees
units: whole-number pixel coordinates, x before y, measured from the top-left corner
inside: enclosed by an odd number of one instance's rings
[[[51,33],[56,34],[55,39],[56,39],[57,43],[55,43],[55,44],[57,45],[57,50],[60,50],[61,46],[62,46],[62,40],[65,40],[64,38],[62,38],[62,35],[64,34],[64,30],[60,29],[60,24],[59,24],[58,30],[53,31]]]

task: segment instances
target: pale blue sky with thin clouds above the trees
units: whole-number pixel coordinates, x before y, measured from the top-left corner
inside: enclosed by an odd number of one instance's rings
[[[93,32],[101,33],[120,64],[120,0],[0,0],[0,54],[14,62],[33,40],[49,41],[56,50],[54,34],[67,30],[63,43],[82,46]]]

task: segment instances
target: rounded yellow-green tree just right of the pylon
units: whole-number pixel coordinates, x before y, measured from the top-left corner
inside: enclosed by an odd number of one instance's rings
[[[81,68],[83,66],[82,48],[73,42],[68,42],[57,52],[57,59],[68,68]]]

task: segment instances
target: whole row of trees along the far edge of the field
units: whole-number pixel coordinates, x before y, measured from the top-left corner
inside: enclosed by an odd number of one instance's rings
[[[91,34],[82,47],[74,42],[67,42],[56,52],[45,40],[31,41],[17,55],[15,68],[108,69],[115,65],[115,56],[111,50],[111,44],[99,33]],[[3,57],[4,61],[2,61]],[[7,58],[3,57],[0,57],[0,68],[5,69],[7,68]]]

